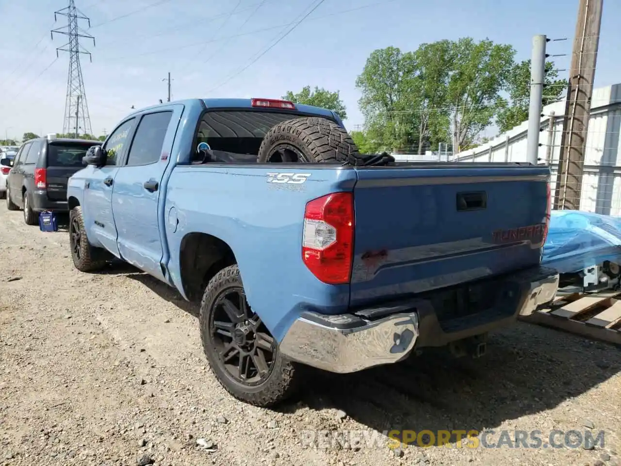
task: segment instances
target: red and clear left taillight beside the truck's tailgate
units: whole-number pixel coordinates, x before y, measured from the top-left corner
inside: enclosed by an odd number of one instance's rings
[[[306,204],[302,260],[319,280],[330,285],[349,283],[353,230],[352,193],[327,194]]]

